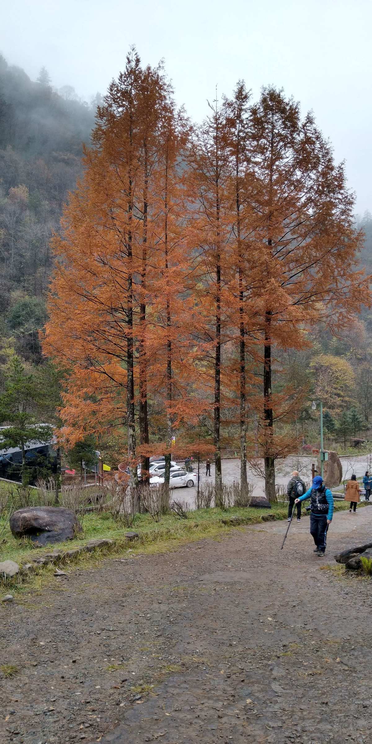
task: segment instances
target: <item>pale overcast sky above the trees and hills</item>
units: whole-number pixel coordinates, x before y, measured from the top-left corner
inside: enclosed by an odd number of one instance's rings
[[[282,86],[312,109],[346,160],[357,211],[372,211],[371,0],[16,0],[1,2],[0,51],[34,80],[89,100],[104,93],[135,44],[164,58],[178,103],[194,120],[239,78],[255,97]]]

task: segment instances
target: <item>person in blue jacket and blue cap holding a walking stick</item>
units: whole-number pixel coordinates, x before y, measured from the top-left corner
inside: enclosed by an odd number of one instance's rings
[[[312,487],[303,496],[296,498],[295,504],[307,498],[310,498],[310,534],[316,546],[314,553],[321,557],[324,556],[327,530],[333,517],[332,491],[324,486],[321,475],[315,475]]]

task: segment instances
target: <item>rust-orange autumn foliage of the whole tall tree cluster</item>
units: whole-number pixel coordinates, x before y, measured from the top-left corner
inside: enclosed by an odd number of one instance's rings
[[[228,443],[243,489],[258,443],[272,496],[292,446],[278,424],[304,394],[277,384],[275,355],[309,344],[312,324],[346,327],[362,301],[343,166],[275,89],[251,103],[240,81],[190,126],[134,50],[84,166],[54,237],[44,341],[68,371],[62,437],[118,432],[133,487],[138,459],[170,461],[173,437],[188,451],[202,432],[217,489]]]

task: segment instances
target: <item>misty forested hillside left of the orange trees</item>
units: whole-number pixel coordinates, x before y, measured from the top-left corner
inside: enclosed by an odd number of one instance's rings
[[[97,101],[56,92],[43,68],[36,82],[0,55],[0,318],[16,350],[41,361],[51,233],[81,171]]]

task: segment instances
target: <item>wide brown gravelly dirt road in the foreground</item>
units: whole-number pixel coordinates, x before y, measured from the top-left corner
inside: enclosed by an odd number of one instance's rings
[[[320,559],[308,518],[283,551],[266,523],[2,606],[1,744],[370,743],[371,583],[321,565],[371,528],[336,514]]]

